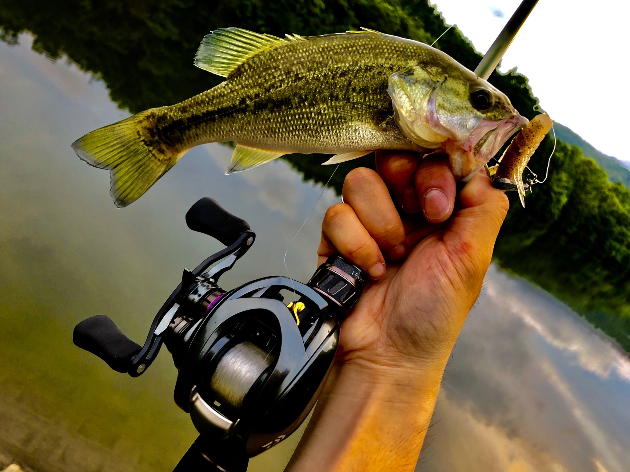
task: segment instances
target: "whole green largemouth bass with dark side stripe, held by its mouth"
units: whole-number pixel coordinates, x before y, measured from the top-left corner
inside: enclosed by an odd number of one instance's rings
[[[335,164],[376,149],[444,149],[465,181],[527,123],[444,52],[365,28],[286,38],[224,28],[203,38],[195,65],[227,80],[72,143],[110,171],[117,206],[203,143],[236,142],[227,174],[294,152],[336,154]]]

